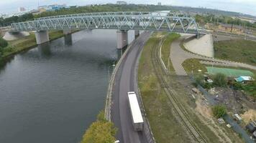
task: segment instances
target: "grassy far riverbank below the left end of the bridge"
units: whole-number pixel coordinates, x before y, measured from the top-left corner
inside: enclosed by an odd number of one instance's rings
[[[64,36],[63,31],[50,31],[49,37],[50,41],[58,39],[60,37]],[[22,39],[17,39],[13,41],[8,42],[9,45],[4,48],[2,58],[5,59],[9,56],[12,56],[14,54],[17,54],[21,51],[25,51],[27,49],[31,49],[35,46],[37,46],[36,40],[35,40],[35,34],[30,33],[29,36],[26,36]]]

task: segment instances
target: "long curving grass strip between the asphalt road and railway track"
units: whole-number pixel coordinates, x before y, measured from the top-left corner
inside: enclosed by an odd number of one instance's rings
[[[140,57],[138,80],[142,102],[156,142],[190,142],[186,130],[176,120],[168,97],[153,71],[150,58],[152,49],[158,46],[160,37],[163,36],[161,33],[153,34]]]

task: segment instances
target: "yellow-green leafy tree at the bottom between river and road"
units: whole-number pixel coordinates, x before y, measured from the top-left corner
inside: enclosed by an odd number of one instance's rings
[[[97,121],[86,130],[81,143],[113,143],[115,134],[114,124],[104,118],[104,112],[100,112]]]

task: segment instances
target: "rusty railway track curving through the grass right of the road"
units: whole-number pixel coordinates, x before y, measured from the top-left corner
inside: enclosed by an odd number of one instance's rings
[[[157,79],[160,82],[161,87],[163,87],[163,89],[165,90],[165,93],[167,94],[168,99],[173,106],[173,109],[178,114],[185,127],[189,130],[189,132],[191,132],[191,134],[193,135],[197,142],[206,143],[204,137],[202,137],[200,132],[198,132],[198,129],[196,129],[196,127],[193,125],[193,122],[191,122],[191,120],[188,118],[186,110],[183,109],[183,105],[180,104],[180,102],[178,102],[178,99],[176,99],[176,96],[178,94],[175,92],[175,90],[171,89],[168,82],[165,80],[165,77],[168,77],[168,73],[167,71],[165,71],[165,69],[163,69],[163,64],[160,61],[159,49],[161,43],[162,40],[160,41],[160,44],[157,47],[152,49],[151,55],[151,60]]]

